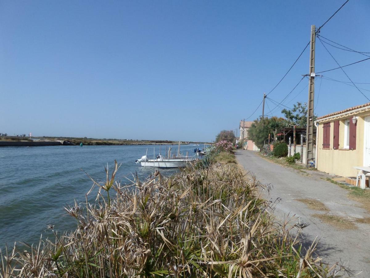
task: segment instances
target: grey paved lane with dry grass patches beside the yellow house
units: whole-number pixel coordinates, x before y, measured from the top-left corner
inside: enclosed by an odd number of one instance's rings
[[[285,168],[256,152],[237,150],[236,159],[262,183],[273,186],[265,197],[279,200],[278,217],[295,215],[309,224],[303,229],[305,246],[318,236],[317,253],[324,262],[341,262],[353,275],[361,272],[356,277],[370,277],[370,224],[356,222],[368,218],[369,213],[347,197],[346,189],[321,179],[314,171]]]

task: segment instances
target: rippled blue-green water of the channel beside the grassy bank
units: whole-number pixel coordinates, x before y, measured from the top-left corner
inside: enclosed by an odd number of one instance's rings
[[[75,222],[63,206],[74,199],[84,202],[92,178],[103,181],[104,166],[112,169],[114,159],[122,163],[116,175],[121,183],[129,183],[131,173],[147,178],[153,168],[135,164],[135,159],[153,156],[153,146],[45,146],[0,148],[0,248],[15,241],[37,242],[40,234],[47,236],[48,224],[59,232],[75,229]],[[165,146],[162,146],[165,154]],[[193,155],[193,145],[182,145],[181,152]],[[155,146],[156,154],[159,146]],[[172,153],[177,153],[177,145]],[[164,175],[176,169],[160,169]],[[95,189],[97,192],[98,189]],[[96,196],[96,194],[91,193]]]

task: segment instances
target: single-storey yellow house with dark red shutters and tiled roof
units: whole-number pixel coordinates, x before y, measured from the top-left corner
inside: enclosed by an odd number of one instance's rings
[[[370,103],[317,118],[319,171],[356,176],[354,166],[370,166]]]

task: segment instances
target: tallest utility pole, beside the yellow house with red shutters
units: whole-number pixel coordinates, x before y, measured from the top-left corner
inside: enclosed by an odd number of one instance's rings
[[[310,73],[307,103],[306,164],[313,158],[313,99],[315,93],[315,39],[316,27],[311,25]],[[317,148],[317,144],[316,144]]]

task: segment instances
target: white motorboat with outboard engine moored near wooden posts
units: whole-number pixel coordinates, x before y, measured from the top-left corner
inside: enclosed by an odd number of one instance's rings
[[[157,159],[148,159],[146,155],[137,159],[135,162],[140,163],[144,167],[157,167],[157,168],[182,168],[190,165],[196,158],[194,157],[172,157],[164,158],[161,154],[157,155]]]

